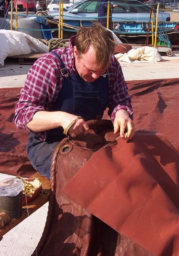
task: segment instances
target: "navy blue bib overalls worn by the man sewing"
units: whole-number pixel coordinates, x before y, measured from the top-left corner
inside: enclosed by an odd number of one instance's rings
[[[108,102],[108,79],[100,76],[92,83],[85,82],[79,75],[68,74],[67,68],[56,52],[61,63],[62,89],[53,105],[52,111],[63,111],[81,116],[85,121],[101,119]],[[65,76],[66,75],[66,76]],[[52,155],[58,143],[66,137],[63,128],[49,130],[46,141],[40,141],[35,134],[29,134],[27,152],[35,170],[50,179]]]

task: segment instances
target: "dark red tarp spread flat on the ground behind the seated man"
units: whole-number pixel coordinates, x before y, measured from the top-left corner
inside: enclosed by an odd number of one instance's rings
[[[179,151],[179,79],[127,81],[127,85],[136,130],[160,132]],[[21,165],[23,170],[32,168],[26,158],[28,132],[13,123],[19,95],[20,88],[0,89],[0,172],[15,175]],[[106,113],[103,118],[109,119]]]

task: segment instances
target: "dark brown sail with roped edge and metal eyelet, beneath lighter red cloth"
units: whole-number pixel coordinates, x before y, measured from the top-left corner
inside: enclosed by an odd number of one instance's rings
[[[110,120],[91,120],[88,121],[88,125],[90,130],[87,135],[81,134],[75,139],[63,139],[54,151],[47,221],[39,244],[32,255],[153,256],[150,251],[118,233],[98,217],[95,217],[88,209],[78,204],[76,199],[78,201],[79,197],[73,200],[73,196],[71,198],[61,192],[81,167],[86,165],[93,154],[96,155],[101,147],[111,143],[116,138]],[[100,158],[103,161],[101,168],[106,165],[106,159],[103,156]],[[93,166],[90,170],[92,169]],[[86,178],[85,175],[84,180]],[[89,177],[89,184],[91,184],[91,179],[93,176]],[[78,185],[84,187],[83,177],[80,178]],[[78,188],[73,186],[70,192],[76,194],[76,189]],[[82,192],[82,194],[84,193]],[[91,191],[89,191],[90,193]],[[86,197],[86,195],[81,196]],[[116,198],[118,198],[117,195]],[[99,207],[100,210],[103,208],[105,213],[106,206],[97,205],[97,208]],[[112,211],[113,209],[111,209]]]

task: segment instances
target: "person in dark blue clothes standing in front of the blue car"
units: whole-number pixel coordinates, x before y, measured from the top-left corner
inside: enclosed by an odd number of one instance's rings
[[[107,27],[107,6],[108,3],[106,0],[101,0],[100,5],[98,7],[98,20],[99,22],[106,28]],[[116,8],[117,4],[110,4],[111,8]],[[105,17],[104,17],[105,16]],[[111,22],[109,28],[111,29]]]

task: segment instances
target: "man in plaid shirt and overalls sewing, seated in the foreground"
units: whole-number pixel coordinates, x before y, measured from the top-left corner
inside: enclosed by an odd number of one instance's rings
[[[96,23],[80,28],[69,47],[45,53],[29,70],[14,121],[29,131],[29,160],[48,179],[57,144],[88,132],[86,121],[101,119],[106,107],[114,133],[120,130],[127,140],[134,135],[131,99],[114,47],[112,33]]]

